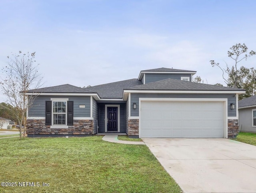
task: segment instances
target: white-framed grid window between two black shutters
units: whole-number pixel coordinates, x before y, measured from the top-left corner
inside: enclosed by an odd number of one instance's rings
[[[66,101],[52,103],[53,125],[66,125]]]

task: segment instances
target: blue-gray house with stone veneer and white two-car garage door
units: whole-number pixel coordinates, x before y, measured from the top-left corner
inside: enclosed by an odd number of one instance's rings
[[[79,88],[29,90],[31,136],[231,137],[238,133],[238,88],[192,82],[196,71],[143,70],[138,78]]]

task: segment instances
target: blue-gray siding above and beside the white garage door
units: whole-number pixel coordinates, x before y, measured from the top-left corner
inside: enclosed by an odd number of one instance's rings
[[[228,117],[236,117],[236,109],[230,109],[230,103],[236,104],[236,97],[234,94],[131,94],[131,115],[139,116],[139,97],[152,98],[227,98],[228,99]],[[137,104],[137,108],[132,107],[133,103]]]

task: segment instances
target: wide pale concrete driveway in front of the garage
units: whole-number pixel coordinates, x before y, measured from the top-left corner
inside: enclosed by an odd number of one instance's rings
[[[184,192],[256,192],[256,146],[230,139],[142,138]]]

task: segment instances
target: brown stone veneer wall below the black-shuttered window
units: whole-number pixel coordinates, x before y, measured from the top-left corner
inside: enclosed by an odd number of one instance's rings
[[[45,125],[45,119],[28,119],[27,134],[28,135],[92,135],[93,120],[74,120],[73,125],[68,128],[50,128]]]

